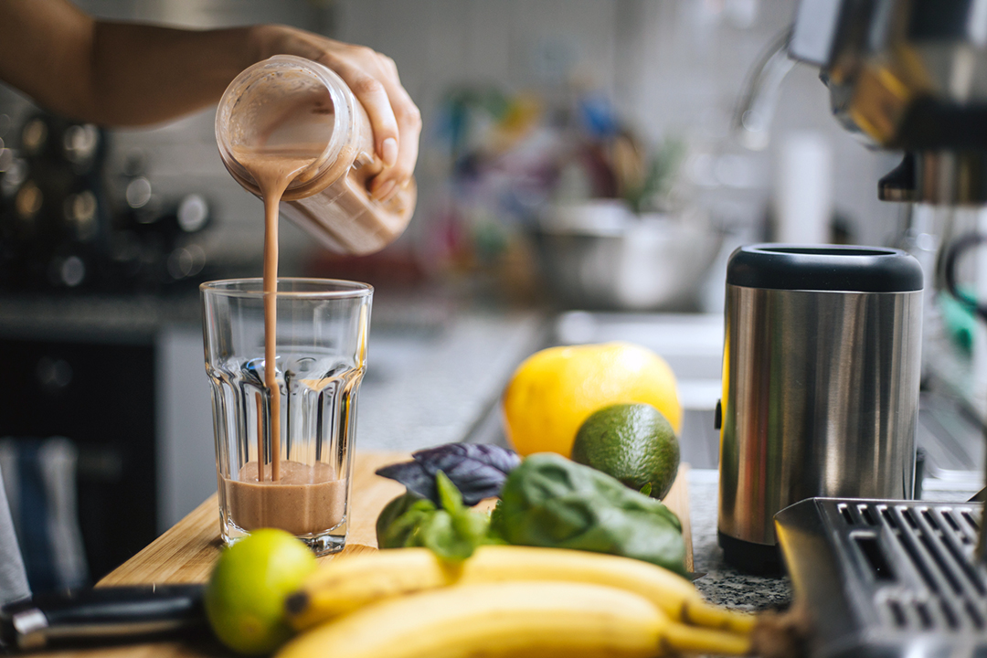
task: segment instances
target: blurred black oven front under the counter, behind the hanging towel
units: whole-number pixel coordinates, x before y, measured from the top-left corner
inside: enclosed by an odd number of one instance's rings
[[[61,436],[77,448],[78,522],[98,580],[159,533],[156,347],[136,331],[69,340],[33,330],[0,334],[0,358],[14,374],[0,379],[0,437]],[[46,533],[31,502],[22,500],[21,521]]]

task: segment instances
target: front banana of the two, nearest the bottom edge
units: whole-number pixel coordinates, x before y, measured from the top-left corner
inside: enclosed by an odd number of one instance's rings
[[[529,581],[388,599],[298,635],[277,658],[648,658],[749,650],[746,637],[669,621],[632,592]]]

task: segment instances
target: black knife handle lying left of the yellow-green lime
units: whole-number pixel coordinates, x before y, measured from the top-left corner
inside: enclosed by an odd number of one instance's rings
[[[18,649],[167,637],[205,625],[202,585],[98,587],[0,611],[0,643]]]

